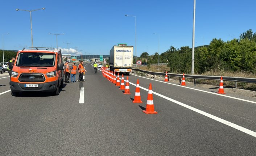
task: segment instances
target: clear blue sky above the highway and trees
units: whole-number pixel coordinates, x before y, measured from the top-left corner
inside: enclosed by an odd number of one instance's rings
[[[174,46],[192,47],[193,0],[9,0],[1,2],[1,45],[4,49],[20,50],[31,46],[30,14],[15,9],[45,10],[32,12],[33,45],[58,46],[66,53],[67,44],[79,47],[83,54],[109,55],[113,45],[127,43],[135,46],[137,56],[142,52],[160,54]],[[239,38],[248,29],[256,32],[255,0],[197,0],[195,46],[209,44],[212,38],[224,41]],[[157,34],[153,34],[157,33]],[[86,52],[86,53],[85,53]],[[135,51],[134,51],[135,54]]]

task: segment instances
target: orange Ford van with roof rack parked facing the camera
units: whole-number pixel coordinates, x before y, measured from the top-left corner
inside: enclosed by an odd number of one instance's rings
[[[61,50],[20,50],[11,73],[12,96],[20,92],[53,92],[63,87]]]

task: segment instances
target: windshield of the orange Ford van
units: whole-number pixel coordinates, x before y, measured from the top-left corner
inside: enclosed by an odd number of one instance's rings
[[[16,62],[20,67],[53,67],[54,64],[55,54],[44,52],[21,52]]]

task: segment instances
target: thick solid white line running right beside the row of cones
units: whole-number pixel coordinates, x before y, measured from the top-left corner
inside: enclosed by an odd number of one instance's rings
[[[125,81],[125,80],[124,80],[124,81]],[[131,83],[131,82],[129,82],[129,84],[136,86],[136,84]],[[140,88],[143,89],[143,90],[148,91],[148,89],[146,89],[146,88],[144,88],[144,87],[141,87],[141,86],[140,86]],[[165,98],[166,100],[169,100],[169,101],[171,101],[171,102],[174,102],[174,103],[176,103],[176,104],[178,104],[178,105],[180,105],[180,106],[183,106],[183,107],[185,107],[185,108],[187,108],[187,109],[193,110],[193,111],[195,111],[195,112],[197,112],[197,113],[199,113],[199,114],[205,115],[205,116],[208,117],[208,118],[214,119],[215,121],[218,121],[218,122],[220,122],[220,123],[223,123],[223,124],[225,124],[225,125],[227,125],[227,126],[230,126],[230,127],[232,127],[232,128],[235,128],[235,129],[237,129],[237,130],[239,130],[239,131],[241,131],[241,132],[244,132],[244,133],[249,134],[249,135],[251,135],[251,136],[254,136],[254,137],[256,138],[256,132],[251,131],[251,130],[248,130],[247,128],[241,127],[241,126],[239,126],[239,125],[236,125],[235,123],[226,121],[226,120],[224,120],[224,119],[222,119],[222,118],[216,117],[216,116],[211,115],[211,114],[209,114],[209,113],[206,113],[206,112],[204,112],[204,111],[202,111],[202,110],[196,109],[196,108],[191,107],[191,106],[186,105],[186,104],[183,104],[182,102],[176,101],[176,100],[174,100],[174,99],[172,99],[172,98],[169,98],[169,97],[166,97],[166,96],[164,96],[164,95],[162,95],[162,94],[159,94],[159,93],[156,93],[156,92],[153,92],[153,94],[155,94],[155,95],[157,95],[157,96],[160,96],[160,97],[162,97],[162,98]]]

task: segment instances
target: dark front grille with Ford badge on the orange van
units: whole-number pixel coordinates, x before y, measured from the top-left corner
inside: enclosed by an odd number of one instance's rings
[[[45,76],[40,73],[22,73],[18,80],[20,82],[44,82]]]

